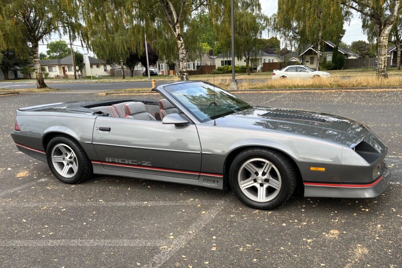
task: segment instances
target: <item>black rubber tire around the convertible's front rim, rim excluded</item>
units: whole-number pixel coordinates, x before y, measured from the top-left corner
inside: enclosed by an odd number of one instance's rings
[[[275,198],[267,202],[257,202],[248,198],[241,190],[238,182],[240,167],[252,158],[263,158],[277,167],[281,175],[281,188]],[[293,165],[283,153],[264,147],[250,147],[239,153],[233,160],[229,171],[229,182],[236,196],[245,205],[254,209],[273,209],[285,203],[296,188],[296,172]]]

